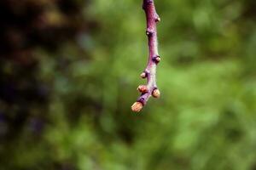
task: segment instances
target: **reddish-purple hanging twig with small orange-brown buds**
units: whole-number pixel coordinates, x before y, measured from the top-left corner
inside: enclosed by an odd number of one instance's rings
[[[147,19],[147,30],[146,34],[148,36],[148,65],[143,71],[141,77],[147,78],[148,83],[146,85],[147,90],[145,91],[143,88],[145,86],[139,86],[138,90],[142,93],[141,96],[137,99],[131,106],[132,111],[141,111],[143,105],[146,105],[150,96],[155,98],[160,97],[160,91],[156,86],[156,65],[160,62],[160,55],[158,54],[158,46],[157,46],[157,31],[156,24],[160,21],[159,15],[156,13],[154,7],[154,0],[143,0],[143,9],[146,14]]]

